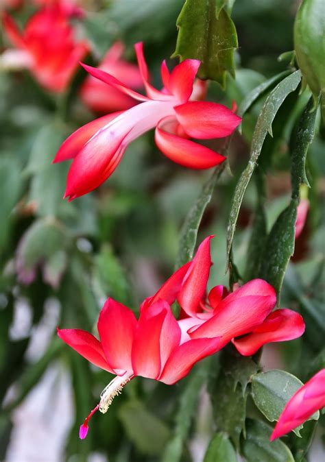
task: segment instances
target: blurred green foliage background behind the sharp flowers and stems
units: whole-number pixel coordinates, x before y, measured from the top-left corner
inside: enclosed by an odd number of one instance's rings
[[[1,0],[0,8],[23,30],[31,16],[44,8],[41,3]],[[72,3],[67,2],[69,8]],[[178,62],[169,56],[176,46],[176,19],[183,3],[80,0],[71,7],[69,23],[76,40],[87,43],[82,59],[94,66],[117,40],[125,45],[123,59],[134,62],[133,44],[142,40],[152,82],[160,88],[161,61],[167,58],[170,68]],[[210,101],[239,105],[252,88],[287,69],[288,62],[278,56],[293,49],[298,3],[234,3],[232,19],[239,39],[236,79],[227,77],[226,90],[210,82]],[[60,343],[56,326],[93,330],[108,295],[134,311],[139,309],[143,298],[173,271],[180,228],[210,171],[191,171],[170,162],[156,149],[154,133],[149,132],[130,145],[108,182],[73,202],[64,201],[69,162],[52,165],[51,161],[69,134],[108,110],[95,106],[94,111],[86,90],[82,93],[86,72],[81,66],[75,67],[64,90],[51,91],[22,64],[16,69],[8,55],[12,40],[5,31],[0,40],[0,460],[158,461],[173,434],[175,409],[188,379],[175,387],[133,380],[106,415],[93,418],[87,439],[80,441],[79,426],[110,375]],[[298,92],[288,97],[276,117],[274,138],[267,135],[263,146],[269,227],[289,200],[289,134],[308,97],[298,104]],[[228,285],[230,200],[248,161],[263,101],[262,97],[245,115],[241,136],[232,138],[229,167],[200,227],[199,241],[207,234],[216,235],[211,287]],[[213,141],[210,146],[218,151],[222,143]],[[262,359],[265,367],[286,367],[301,380],[312,361],[317,367],[324,358],[324,330],[317,327],[324,319],[324,147],[324,134],[318,133],[308,160],[313,186],[309,215],[282,291],[282,306],[298,306],[309,327],[303,343],[298,339],[265,348]],[[255,206],[251,182],[234,242],[239,271],[246,271],[249,263],[246,252]],[[211,419],[203,390],[184,461],[202,461],[213,430]],[[321,460],[318,439],[309,461]]]

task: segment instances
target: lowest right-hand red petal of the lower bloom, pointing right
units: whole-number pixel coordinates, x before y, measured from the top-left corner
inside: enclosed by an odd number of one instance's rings
[[[304,320],[295,311],[282,309],[271,313],[261,326],[232,343],[243,356],[255,354],[265,343],[297,339],[304,333]]]

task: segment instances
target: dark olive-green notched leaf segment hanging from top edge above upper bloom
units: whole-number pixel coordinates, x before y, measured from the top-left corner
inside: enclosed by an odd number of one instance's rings
[[[178,39],[173,56],[201,61],[197,74],[225,86],[226,72],[234,75],[236,28],[217,0],[186,0],[176,25]]]

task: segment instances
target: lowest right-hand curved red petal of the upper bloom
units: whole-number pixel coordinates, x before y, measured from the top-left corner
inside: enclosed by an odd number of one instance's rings
[[[155,141],[160,151],[173,162],[190,169],[210,169],[210,167],[224,162],[224,156],[208,149],[208,147],[165,131],[165,129],[174,128],[170,125],[171,123],[173,123],[171,117],[165,117],[158,123]]]

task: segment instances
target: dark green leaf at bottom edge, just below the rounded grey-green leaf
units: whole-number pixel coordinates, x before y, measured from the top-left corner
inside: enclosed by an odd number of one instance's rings
[[[247,462],[295,462],[289,448],[280,439],[269,441],[273,428],[258,420],[246,421],[246,438],[241,452]]]

